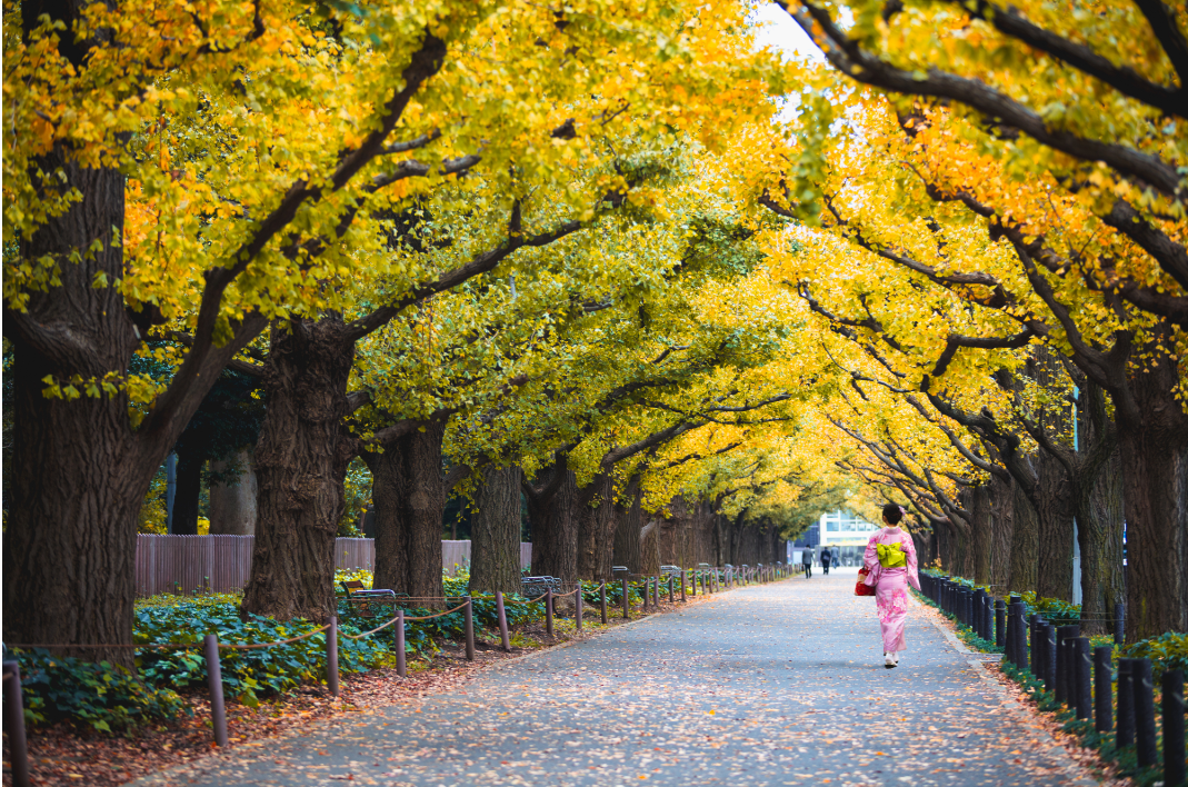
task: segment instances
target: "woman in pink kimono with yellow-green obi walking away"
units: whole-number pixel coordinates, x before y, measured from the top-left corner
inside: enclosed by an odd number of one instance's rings
[[[899,527],[904,510],[898,505],[883,506],[886,525],[866,544],[866,579],[874,587],[874,605],[883,629],[883,663],[887,669],[898,666],[899,651],[908,649],[903,627],[908,619],[908,585],[920,590],[916,566],[916,546]]]

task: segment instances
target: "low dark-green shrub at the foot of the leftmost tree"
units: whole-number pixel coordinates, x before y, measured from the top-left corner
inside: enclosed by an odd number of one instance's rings
[[[190,712],[177,692],[147,686],[127,669],[55,656],[48,650],[13,650],[20,663],[25,723],[72,720],[97,732],[122,732]]]

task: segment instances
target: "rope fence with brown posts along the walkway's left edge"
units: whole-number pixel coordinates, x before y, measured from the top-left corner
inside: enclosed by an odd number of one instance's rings
[[[675,573],[666,574],[666,585],[669,600],[675,602],[674,581],[680,579],[681,584],[681,600],[685,600],[685,593],[690,588],[689,580],[691,579],[691,591],[693,596],[697,594],[697,584],[700,581],[703,593],[712,593],[725,587],[733,587],[737,584],[750,584],[752,581],[766,583],[776,579],[783,579],[791,577],[795,573],[800,573],[800,567],[794,566],[739,566],[739,567],[699,567],[696,569],[681,569],[680,577]],[[630,619],[630,593],[628,587],[642,590],[643,593],[643,609],[646,611],[649,606],[649,593],[652,594],[652,605],[659,605],[661,597],[661,585],[665,584],[665,577],[659,574],[652,577],[644,577],[639,583],[630,584],[628,578],[621,579],[623,590],[623,613],[625,619]],[[567,585],[568,583],[565,583]],[[618,583],[617,583],[618,584]],[[327,684],[329,686],[330,693],[334,697],[339,695],[339,638],[347,640],[362,640],[364,637],[369,637],[378,634],[388,627],[394,627],[393,634],[396,642],[393,644],[393,650],[396,651],[397,661],[397,674],[400,678],[406,676],[406,665],[405,665],[405,623],[415,621],[431,621],[440,617],[446,617],[447,615],[453,615],[455,612],[462,611],[465,619],[465,635],[466,635],[466,659],[468,661],[474,661],[474,602],[478,600],[494,600],[495,602],[495,613],[499,622],[499,634],[503,644],[503,650],[505,653],[511,653],[511,640],[507,627],[507,615],[506,607],[514,605],[526,605],[544,603],[545,613],[545,631],[551,637],[554,636],[552,622],[554,622],[554,603],[560,598],[574,597],[574,611],[575,611],[575,623],[577,631],[582,630],[582,615],[584,607],[584,597],[587,593],[596,593],[598,603],[600,607],[602,624],[608,623],[608,609],[607,609],[607,587],[608,583],[602,581],[594,588],[587,588],[581,583],[576,583],[575,587],[564,593],[556,593],[552,588],[548,588],[542,596],[532,599],[518,599],[508,602],[504,598],[503,592],[497,591],[494,594],[482,594],[482,596],[442,596],[442,597],[396,597],[387,602],[397,607],[406,606],[412,602],[422,602],[429,604],[446,604],[453,600],[462,599],[462,603],[457,606],[448,609],[442,612],[436,612],[432,615],[422,616],[409,616],[405,615],[404,609],[397,609],[396,615],[385,623],[371,629],[368,631],[362,631],[360,634],[346,634],[339,630],[337,617],[331,617],[329,623],[318,627],[304,634],[301,634],[287,640],[278,640],[276,642],[254,642],[254,643],[235,643],[235,642],[219,642],[217,634],[207,634],[202,642],[144,642],[144,643],[116,643],[116,644],[61,644],[61,643],[40,643],[40,644],[15,644],[6,643],[6,648],[20,648],[20,649],[68,649],[68,650],[88,650],[88,649],[135,649],[135,650],[170,650],[170,649],[194,649],[202,647],[204,650],[206,662],[207,662],[207,682],[210,691],[210,716],[211,726],[214,730],[215,744],[226,748],[228,744],[227,737],[227,710],[223,701],[222,691],[222,666],[219,657],[220,650],[254,650],[259,648],[274,648],[278,646],[292,644],[302,640],[307,640],[316,634],[327,632],[326,637],[326,673]],[[399,623],[399,625],[396,625]],[[4,712],[5,712],[5,732],[10,735],[10,753],[12,760],[12,774],[13,785],[15,787],[27,787],[29,781],[29,753],[25,742],[25,719],[24,719],[24,699],[20,691],[20,665],[17,661],[4,662]]]

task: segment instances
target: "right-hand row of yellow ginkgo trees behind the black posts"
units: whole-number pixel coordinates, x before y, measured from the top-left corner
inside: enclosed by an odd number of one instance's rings
[[[1069,598],[1075,522],[1087,630],[1186,630],[1183,8],[781,5],[828,100],[763,199],[839,462],[1003,591]]]

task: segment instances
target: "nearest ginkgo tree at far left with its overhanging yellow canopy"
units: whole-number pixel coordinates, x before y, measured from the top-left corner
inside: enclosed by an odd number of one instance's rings
[[[375,309],[481,272],[404,269],[388,253],[391,216],[419,195],[481,162],[488,182],[508,184],[500,202],[514,214],[529,197],[510,185],[517,171],[532,174],[526,184],[596,169],[590,130],[712,136],[735,112],[766,113],[731,102],[762,76],[739,65],[742,13],[731,2],[6,6],[19,468],[6,640],[131,640],[144,491],[219,371],[265,328],[291,357],[326,315],[345,315],[339,333],[366,333]],[[615,175],[590,185],[563,200],[579,219],[626,187]],[[513,221],[470,231],[488,250],[527,240]],[[372,308],[356,302],[355,277],[386,282]],[[177,367],[160,385],[128,372],[156,326],[181,342],[157,351]],[[265,458],[286,451],[271,445]],[[341,508],[341,496],[311,503]],[[80,654],[126,663],[131,651]]]

